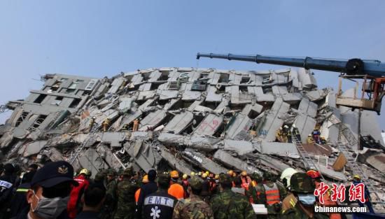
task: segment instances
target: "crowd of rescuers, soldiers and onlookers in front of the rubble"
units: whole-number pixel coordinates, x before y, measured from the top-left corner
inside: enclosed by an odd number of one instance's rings
[[[337,206],[329,192],[323,204],[314,196],[321,183],[321,174],[314,170],[288,168],[276,178],[269,171],[262,176],[232,170],[183,174],[151,169],[141,174],[126,168],[101,170],[91,178],[91,171],[74,172],[65,161],[40,169],[31,164],[22,176],[12,164],[0,169],[0,219],[255,218],[252,204],[265,205],[267,218],[344,217],[314,212],[315,204]],[[372,211],[369,200],[366,204]]]

